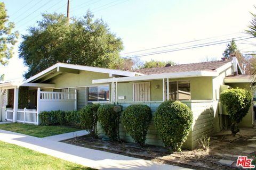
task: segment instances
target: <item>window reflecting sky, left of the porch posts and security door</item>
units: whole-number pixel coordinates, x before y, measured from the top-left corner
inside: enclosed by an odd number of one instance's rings
[[[109,101],[109,86],[88,87],[87,101]]]

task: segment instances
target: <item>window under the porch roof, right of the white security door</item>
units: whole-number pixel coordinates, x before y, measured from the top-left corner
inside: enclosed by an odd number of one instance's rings
[[[189,81],[171,81],[169,82],[170,100],[190,100],[190,82]]]

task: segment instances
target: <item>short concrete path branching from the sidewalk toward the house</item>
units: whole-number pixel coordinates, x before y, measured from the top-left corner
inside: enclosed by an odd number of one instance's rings
[[[75,138],[75,137],[81,137],[81,136],[86,135],[86,134],[88,134],[88,132],[83,130],[83,131],[57,134],[57,135],[53,135],[51,137],[45,137],[43,139],[48,139],[48,140],[53,140],[53,141],[61,141],[61,140]]]

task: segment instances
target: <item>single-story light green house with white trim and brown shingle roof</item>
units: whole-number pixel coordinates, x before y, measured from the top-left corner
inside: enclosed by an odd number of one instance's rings
[[[146,104],[154,113],[163,101],[180,100],[193,111],[193,128],[184,146],[191,149],[202,135],[228,126],[229,118],[219,102],[220,92],[231,87],[250,90],[251,82],[249,75],[243,75],[236,57],[135,72],[57,63],[24,82],[0,84],[2,121],[39,124],[38,113],[41,111],[79,110],[92,103],[117,103],[123,108]],[[18,108],[19,87],[22,86],[29,87],[27,109]],[[6,105],[9,108],[5,108]],[[252,127],[252,113],[253,107],[241,126]],[[120,135],[122,139],[132,141],[122,124]],[[146,143],[162,145],[153,124]]]

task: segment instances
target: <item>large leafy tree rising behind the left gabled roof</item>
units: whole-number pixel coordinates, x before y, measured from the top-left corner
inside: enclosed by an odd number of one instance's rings
[[[88,11],[83,19],[68,23],[63,14],[43,14],[36,27],[30,27],[19,47],[29,78],[57,62],[114,69],[120,62],[122,41],[101,19]]]

